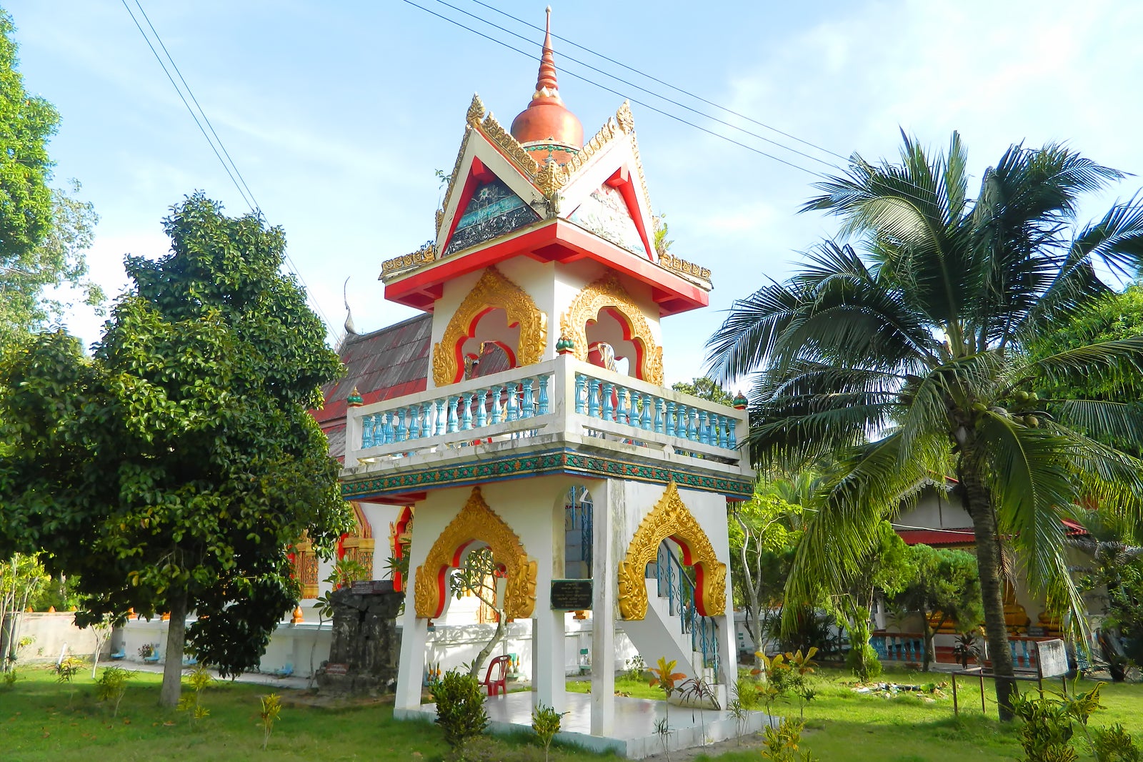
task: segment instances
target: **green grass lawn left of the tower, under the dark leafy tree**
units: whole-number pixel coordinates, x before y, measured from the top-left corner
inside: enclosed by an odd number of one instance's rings
[[[266,753],[262,751],[259,697],[270,685],[216,682],[202,692],[210,715],[192,728],[185,712],[162,709],[161,675],[136,673],[119,707],[96,700],[90,665],[75,676],[74,694],[49,668],[24,667],[11,688],[0,683],[0,761],[114,762],[128,760],[440,760],[448,749],[437,725],[393,720],[392,699],[312,706],[307,694],[278,691],[285,707]],[[183,683],[183,694],[190,689]],[[480,739],[475,760],[543,760],[530,739]],[[601,760],[553,747],[551,759]]]

